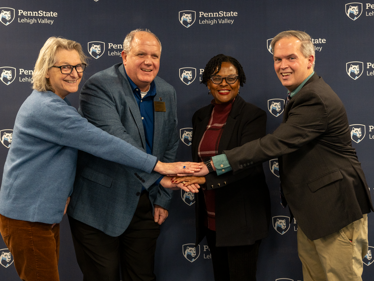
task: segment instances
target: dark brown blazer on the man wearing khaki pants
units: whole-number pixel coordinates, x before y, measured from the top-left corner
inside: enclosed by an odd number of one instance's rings
[[[344,105],[317,74],[291,98],[272,134],[225,154],[234,173],[278,157],[289,208],[311,240],[373,210]]]

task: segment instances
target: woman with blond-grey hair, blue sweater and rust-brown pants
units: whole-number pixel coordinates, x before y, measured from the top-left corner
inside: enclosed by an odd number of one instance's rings
[[[59,280],[59,223],[73,191],[78,150],[147,173],[200,167],[161,163],[81,117],[66,96],[78,90],[86,65],[79,43],[50,37],[35,64],[34,91],[15,119],[0,189],[0,232],[22,280]]]

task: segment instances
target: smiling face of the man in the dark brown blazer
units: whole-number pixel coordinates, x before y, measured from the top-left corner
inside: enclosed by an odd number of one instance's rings
[[[296,37],[282,38],[274,45],[275,72],[290,92],[313,73],[314,56],[304,57],[301,42]]]

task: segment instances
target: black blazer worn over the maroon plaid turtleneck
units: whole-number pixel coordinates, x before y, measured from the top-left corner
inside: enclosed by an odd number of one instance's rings
[[[192,117],[192,158],[198,161],[198,146],[208,125],[213,105],[195,112]],[[266,113],[236,97],[220,139],[218,153],[241,146],[265,135]],[[252,245],[267,237],[270,221],[270,197],[262,164],[237,174],[206,176],[206,188],[216,189],[216,245]],[[196,197],[196,244],[205,237],[205,202],[203,192]]]

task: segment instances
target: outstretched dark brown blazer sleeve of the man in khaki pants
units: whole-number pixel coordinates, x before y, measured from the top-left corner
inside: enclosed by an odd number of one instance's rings
[[[305,86],[297,93],[287,107],[284,112],[286,119],[272,134],[224,151],[234,173],[294,152],[327,130],[328,112],[325,103],[309,87]]]

